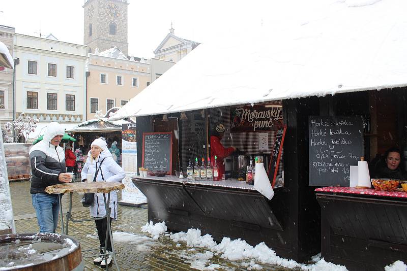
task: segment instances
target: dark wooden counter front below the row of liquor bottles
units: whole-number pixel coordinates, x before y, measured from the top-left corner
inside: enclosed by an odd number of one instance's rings
[[[149,200],[149,220],[165,221],[173,231],[199,228],[220,242],[224,236],[251,245],[265,242],[288,257],[290,234],[270,201],[243,181],[189,181],[175,176],[135,177],[133,183]],[[292,256],[292,255],[291,255]]]

